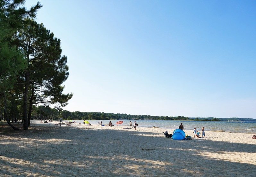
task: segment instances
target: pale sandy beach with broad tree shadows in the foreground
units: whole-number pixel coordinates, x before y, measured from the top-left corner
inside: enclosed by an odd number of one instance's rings
[[[256,176],[252,134],[206,131],[182,141],[161,128],[54,123],[16,132],[1,125],[0,176]]]

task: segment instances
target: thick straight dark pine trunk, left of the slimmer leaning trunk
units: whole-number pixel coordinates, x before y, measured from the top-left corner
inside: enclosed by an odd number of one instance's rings
[[[29,91],[29,72],[25,72],[25,90],[23,96],[23,130],[28,130],[28,91]]]

